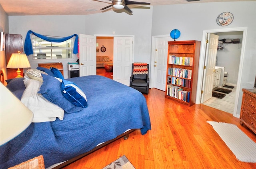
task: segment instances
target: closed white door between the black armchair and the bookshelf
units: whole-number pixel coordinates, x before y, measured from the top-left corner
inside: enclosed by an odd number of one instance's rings
[[[165,91],[166,69],[170,37],[156,38],[154,61],[154,88]]]

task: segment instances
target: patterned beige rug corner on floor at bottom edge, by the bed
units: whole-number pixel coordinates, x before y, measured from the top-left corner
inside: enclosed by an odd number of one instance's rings
[[[103,169],[135,169],[132,163],[126,158],[125,155],[110,163]]]

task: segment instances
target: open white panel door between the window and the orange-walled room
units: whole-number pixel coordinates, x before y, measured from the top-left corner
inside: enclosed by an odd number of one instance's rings
[[[96,37],[79,34],[80,76],[96,75]]]

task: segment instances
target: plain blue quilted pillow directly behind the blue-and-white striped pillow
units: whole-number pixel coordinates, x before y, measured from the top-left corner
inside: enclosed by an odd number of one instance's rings
[[[44,98],[56,104],[67,113],[78,112],[83,109],[82,107],[75,106],[62,95],[61,82],[58,79],[44,74],[42,74],[42,77],[43,84],[38,93],[41,93]]]

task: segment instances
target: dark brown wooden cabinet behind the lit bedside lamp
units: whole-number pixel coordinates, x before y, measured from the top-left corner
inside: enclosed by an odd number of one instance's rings
[[[12,56],[12,53],[18,53],[20,51],[23,53],[23,39],[22,35],[17,34],[5,34],[5,57],[6,57],[6,66]],[[17,76],[17,69],[6,68],[7,79],[12,79]],[[23,69],[20,69],[21,75],[23,76]]]

